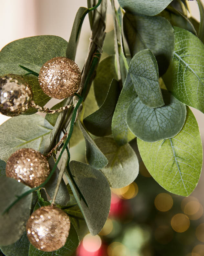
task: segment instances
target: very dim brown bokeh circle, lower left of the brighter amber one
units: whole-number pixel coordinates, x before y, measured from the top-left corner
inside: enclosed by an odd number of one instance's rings
[[[174,237],[174,232],[169,226],[159,226],[154,233],[155,239],[160,244],[168,244]]]

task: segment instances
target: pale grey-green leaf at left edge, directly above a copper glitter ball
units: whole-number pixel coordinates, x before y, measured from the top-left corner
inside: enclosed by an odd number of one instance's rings
[[[7,161],[11,154],[20,148],[34,148],[43,151],[48,147],[47,140],[53,126],[42,116],[16,116],[0,126],[0,159]]]

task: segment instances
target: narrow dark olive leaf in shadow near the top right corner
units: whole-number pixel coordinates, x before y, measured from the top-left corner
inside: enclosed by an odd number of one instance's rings
[[[159,16],[168,19],[172,26],[177,26],[179,28],[189,30],[193,34],[197,35],[196,29],[191,19],[171,6],[168,6],[168,8],[163,10]]]

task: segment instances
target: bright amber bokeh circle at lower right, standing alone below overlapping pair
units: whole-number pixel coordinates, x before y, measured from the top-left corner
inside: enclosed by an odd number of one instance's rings
[[[190,221],[187,215],[178,213],[171,219],[171,227],[178,233],[185,232],[190,227]]]

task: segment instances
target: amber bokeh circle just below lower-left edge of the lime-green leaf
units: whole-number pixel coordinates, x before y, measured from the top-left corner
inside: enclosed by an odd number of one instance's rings
[[[155,207],[161,212],[167,212],[173,206],[173,198],[167,193],[160,193],[154,200]]]

